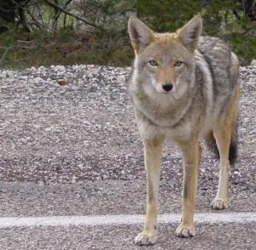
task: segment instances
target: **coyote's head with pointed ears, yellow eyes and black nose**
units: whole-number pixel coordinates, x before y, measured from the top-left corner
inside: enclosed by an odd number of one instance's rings
[[[194,52],[202,29],[200,16],[175,33],[156,33],[136,17],[129,19],[128,29],[136,54],[135,68],[137,75],[143,77],[142,82],[164,94],[188,88],[195,71]]]

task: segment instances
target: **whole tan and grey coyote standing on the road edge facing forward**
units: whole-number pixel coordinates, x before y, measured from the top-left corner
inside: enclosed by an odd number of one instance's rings
[[[156,33],[131,16],[128,31],[135,60],[130,79],[147,173],[147,212],[138,245],[154,244],[162,145],[183,153],[182,220],[176,234],[195,236],[194,212],[200,139],[218,153],[218,192],[213,209],[228,206],[229,166],[236,160],[239,62],[217,37],[201,37],[197,15],[174,33]]]

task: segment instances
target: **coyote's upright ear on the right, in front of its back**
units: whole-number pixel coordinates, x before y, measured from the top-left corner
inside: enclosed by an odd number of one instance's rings
[[[177,31],[178,37],[184,46],[190,48],[192,51],[197,47],[199,37],[201,36],[202,20],[200,15],[194,18]]]

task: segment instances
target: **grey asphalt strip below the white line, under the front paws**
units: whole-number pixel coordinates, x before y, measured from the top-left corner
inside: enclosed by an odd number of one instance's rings
[[[198,235],[192,239],[177,238],[176,226],[161,224],[159,240],[150,247],[132,244],[142,228],[135,225],[4,229],[0,230],[0,247],[6,250],[255,250],[255,224],[197,224]]]

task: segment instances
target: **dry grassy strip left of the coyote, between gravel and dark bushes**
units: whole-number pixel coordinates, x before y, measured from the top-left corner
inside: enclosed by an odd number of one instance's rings
[[[5,33],[2,37],[0,67],[5,69],[74,64],[125,66],[130,65],[133,56],[128,35],[113,37],[95,32],[78,35],[73,31],[58,34],[37,31]]]

